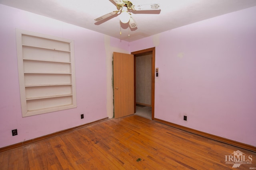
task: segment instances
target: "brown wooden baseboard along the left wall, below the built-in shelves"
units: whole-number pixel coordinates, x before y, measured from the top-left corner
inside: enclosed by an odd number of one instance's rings
[[[62,135],[62,134],[64,134],[64,133],[68,133],[68,132],[71,132],[71,131],[74,131],[74,130],[77,130],[77,129],[86,127],[86,126],[88,126],[88,125],[92,125],[92,124],[98,123],[98,122],[100,122],[100,121],[106,121],[106,120],[108,120],[108,117],[103,118],[103,119],[100,119],[100,120],[97,120],[97,121],[93,121],[93,122],[90,122],[90,123],[86,123],[86,124],[84,124],[84,125],[72,127],[72,128],[69,128],[69,129],[65,129],[65,130],[62,130],[62,131],[58,131],[58,132],[54,132],[54,133],[51,133],[51,134],[49,134],[49,135],[44,135],[44,136],[42,136],[42,137],[37,137],[37,138],[35,138],[35,139],[30,139],[30,140],[28,140],[28,141],[23,141],[23,142],[20,142],[20,143],[16,143],[16,144],[13,144],[13,145],[9,145],[9,146],[6,146],[6,147],[2,147],[2,148],[0,148],[0,152],[4,152],[4,151],[10,150],[10,149],[15,149],[15,148],[18,148],[18,147],[22,147],[22,146],[24,146],[24,145],[28,145],[28,144],[31,144],[31,143],[43,141],[43,140],[49,139],[49,138],[51,138],[51,137],[58,136],[58,135]]]

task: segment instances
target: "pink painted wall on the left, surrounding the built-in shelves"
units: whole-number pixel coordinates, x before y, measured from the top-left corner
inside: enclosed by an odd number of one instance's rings
[[[0,23],[0,147],[108,117],[103,34],[1,4]],[[16,28],[74,40],[77,108],[22,118]]]

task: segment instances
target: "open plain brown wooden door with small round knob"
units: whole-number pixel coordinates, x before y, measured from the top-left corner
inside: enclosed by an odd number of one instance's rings
[[[113,53],[114,65],[114,117],[134,113],[134,56]]]

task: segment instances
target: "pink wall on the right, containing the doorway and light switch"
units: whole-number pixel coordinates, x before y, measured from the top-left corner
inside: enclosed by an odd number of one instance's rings
[[[156,118],[256,146],[255,16],[248,8],[160,33]]]

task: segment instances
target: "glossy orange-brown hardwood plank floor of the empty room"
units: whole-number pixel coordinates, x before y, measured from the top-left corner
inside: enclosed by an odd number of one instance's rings
[[[1,170],[226,170],[225,156],[256,153],[132,115],[0,152]]]

